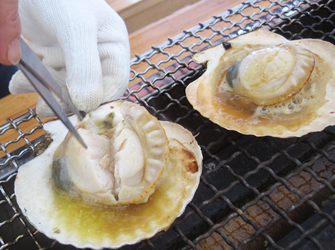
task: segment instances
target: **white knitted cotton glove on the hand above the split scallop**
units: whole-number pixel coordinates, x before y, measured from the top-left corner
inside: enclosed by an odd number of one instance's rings
[[[128,33],[104,0],[20,0],[19,13],[23,37],[79,110],[123,95],[130,74]],[[36,92],[20,71],[9,90]],[[37,114],[53,115],[41,98]]]

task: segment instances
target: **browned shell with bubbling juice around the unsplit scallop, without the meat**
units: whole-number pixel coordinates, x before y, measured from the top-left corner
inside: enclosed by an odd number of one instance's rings
[[[335,124],[335,46],[318,39],[301,39],[288,41],[284,37],[258,29],[229,41],[231,48],[225,49],[217,45],[194,55],[197,63],[207,64],[204,74],[186,88],[186,96],[194,109],[204,117],[228,130],[242,134],[273,137],[299,137],[309,132],[321,131]],[[224,100],[224,84],[222,84],[230,66],[241,59],[241,54],[252,53],[259,48],[269,46],[295,47],[302,52],[301,61],[313,56],[314,62],[294,68],[293,74],[311,66],[311,76],[302,77],[303,87],[296,87],[282,99],[262,106],[262,101],[247,100],[241,109],[235,108],[234,98],[244,101],[244,96],[231,95],[229,101]],[[251,60],[250,60],[251,61]],[[255,62],[256,63],[256,62]],[[297,64],[297,63],[296,63]],[[228,66],[227,66],[228,65]],[[299,65],[298,65],[299,66]],[[266,72],[276,74],[277,72]],[[299,77],[301,77],[299,75]],[[298,77],[297,77],[298,78]],[[226,84],[227,85],[227,84]],[[294,85],[294,84],[291,84]],[[227,91],[228,93],[228,91]],[[243,92],[241,91],[243,94]],[[268,93],[264,92],[264,96]],[[244,98],[244,99],[243,99]],[[228,100],[228,98],[227,98]],[[243,103],[242,101],[240,101]],[[228,103],[228,104],[227,104]],[[243,105],[242,105],[243,106]]]

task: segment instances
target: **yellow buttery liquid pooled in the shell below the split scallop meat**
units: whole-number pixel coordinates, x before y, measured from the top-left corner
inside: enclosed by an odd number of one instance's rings
[[[94,245],[107,239],[113,246],[118,246],[151,237],[157,230],[169,227],[179,215],[198,175],[187,171],[180,156],[170,155],[164,176],[148,202],[124,207],[92,206],[71,199],[54,188],[54,209],[50,218],[59,224],[53,231],[65,237],[76,235],[80,242]]]

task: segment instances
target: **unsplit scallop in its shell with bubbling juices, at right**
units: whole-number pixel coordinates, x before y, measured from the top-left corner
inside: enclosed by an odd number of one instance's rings
[[[297,137],[335,124],[335,47],[264,28],[193,56],[205,73],[186,88],[194,109],[242,134]],[[226,48],[225,48],[226,47]]]

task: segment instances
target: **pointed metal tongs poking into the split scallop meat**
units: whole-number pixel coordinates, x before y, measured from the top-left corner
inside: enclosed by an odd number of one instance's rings
[[[49,105],[57,117],[64,123],[77,140],[87,148],[85,142],[80,137],[78,131],[73,127],[66,113],[56,101],[51,93],[53,91],[61,100],[63,100],[71,111],[78,116],[80,120],[83,116],[74,106],[70,97],[61,89],[59,84],[53,79],[50,72],[43,65],[38,56],[30,49],[26,42],[21,38],[21,60],[17,65],[23,74],[28,78],[30,83],[35,87],[36,91],[42,96],[44,101]]]

